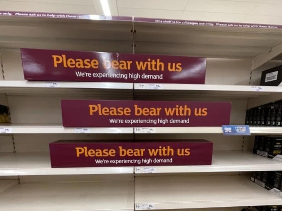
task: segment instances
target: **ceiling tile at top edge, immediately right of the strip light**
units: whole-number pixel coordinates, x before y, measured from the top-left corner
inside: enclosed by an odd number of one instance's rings
[[[187,0],[117,0],[117,7],[159,9],[159,10],[184,10]]]

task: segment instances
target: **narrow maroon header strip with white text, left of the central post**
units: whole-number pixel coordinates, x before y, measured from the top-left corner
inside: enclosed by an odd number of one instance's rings
[[[24,11],[1,11],[0,16],[10,17],[33,17],[33,18],[70,18],[70,19],[87,19],[87,20],[110,20],[110,21],[131,21],[132,17],[127,16],[99,16],[90,14],[73,14],[73,13],[47,13],[47,12],[24,12]]]

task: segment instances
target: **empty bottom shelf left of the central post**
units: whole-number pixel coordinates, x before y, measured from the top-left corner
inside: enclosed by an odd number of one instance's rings
[[[133,181],[21,183],[0,195],[0,204],[1,211],[133,211],[134,184]]]

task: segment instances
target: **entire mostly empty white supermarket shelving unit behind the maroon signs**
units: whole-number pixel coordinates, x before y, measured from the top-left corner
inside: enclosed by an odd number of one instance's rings
[[[149,205],[239,211],[282,205],[282,198],[245,175],[282,171],[282,163],[251,153],[254,135],[282,135],[282,127],[250,126],[250,137],[223,136],[221,127],[154,127],[152,134],[133,127],[87,127],[79,134],[78,128],[62,126],[60,104],[61,99],[231,102],[230,123],[244,124],[247,108],[282,99],[281,87],[259,86],[262,70],[282,64],[282,29],[88,18],[0,16],[0,103],[9,106],[11,116],[11,124],[0,125],[8,128],[8,135],[0,134],[1,211],[133,211]],[[25,81],[19,48],[202,56],[206,82],[155,89],[156,84]],[[134,138],[210,140],[212,165],[151,166],[150,175],[148,166],[51,168],[48,144],[58,139]]]

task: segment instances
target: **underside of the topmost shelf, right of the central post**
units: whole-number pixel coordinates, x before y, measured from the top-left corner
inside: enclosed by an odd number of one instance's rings
[[[135,18],[135,53],[249,58],[268,52],[282,42],[281,29],[216,26],[212,22],[213,26],[150,21],[152,19]]]

